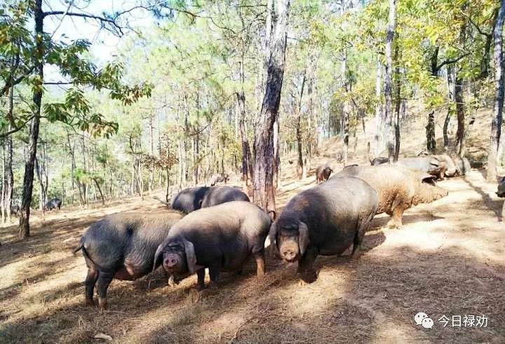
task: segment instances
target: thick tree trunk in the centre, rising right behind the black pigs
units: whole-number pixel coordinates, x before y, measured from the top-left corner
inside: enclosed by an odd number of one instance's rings
[[[276,210],[274,191],[274,123],[278,117],[284,76],[290,0],[276,0],[273,37],[269,40],[267,83],[255,132],[253,200],[265,211]]]

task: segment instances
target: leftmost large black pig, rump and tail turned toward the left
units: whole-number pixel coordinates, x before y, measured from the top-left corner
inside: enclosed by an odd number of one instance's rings
[[[163,214],[113,214],[93,223],[80,245],[88,275],[86,303],[93,304],[95,284],[98,305],[107,308],[107,289],[112,279],[135,280],[152,270],[156,248],[168,235],[180,212]]]

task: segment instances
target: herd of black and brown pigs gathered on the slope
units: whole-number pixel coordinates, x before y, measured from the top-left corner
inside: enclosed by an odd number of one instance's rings
[[[86,303],[94,304],[96,288],[99,308],[107,308],[113,279],[135,280],[159,266],[175,282],[196,273],[203,289],[206,268],[209,287],[217,287],[222,271],[241,271],[254,256],[261,277],[267,236],[273,257],[297,261],[299,277],[314,282],[318,255],[339,255],[352,247],[351,256],[358,256],[375,214],[389,214],[388,226],[400,228],[405,209],[447,195],[437,178],[469,169],[467,160],[448,156],[371,163],[346,166],[332,177],[330,166],[318,167],[317,185],[291,198],[280,216],[230,186],[184,189],[172,198],[172,210],[159,214],[107,216],[88,228],[74,250],[83,252],[88,266]]]

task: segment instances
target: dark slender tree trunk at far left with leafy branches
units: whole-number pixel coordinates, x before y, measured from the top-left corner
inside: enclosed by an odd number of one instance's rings
[[[41,103],[43,93],[43,11],[42,0],[35,0],[34,3],[34,19],[35,19],[35,34],[36,34],[36,53],[35,53],[35,71],[38,76],[35,83],[36,86],[33,94],[34,102],[34,118],[29,130],[28,142],[28,159],[25,163],[25,177],[23,178],[22,202],[20,209],[20,226],[19,238],[24,239],[29,237],[29,215],[30,205],[32,205],[32,191],[34,179],[34,162],[36,157],[36,146],[39,141],[39,126],[41,115]]]

